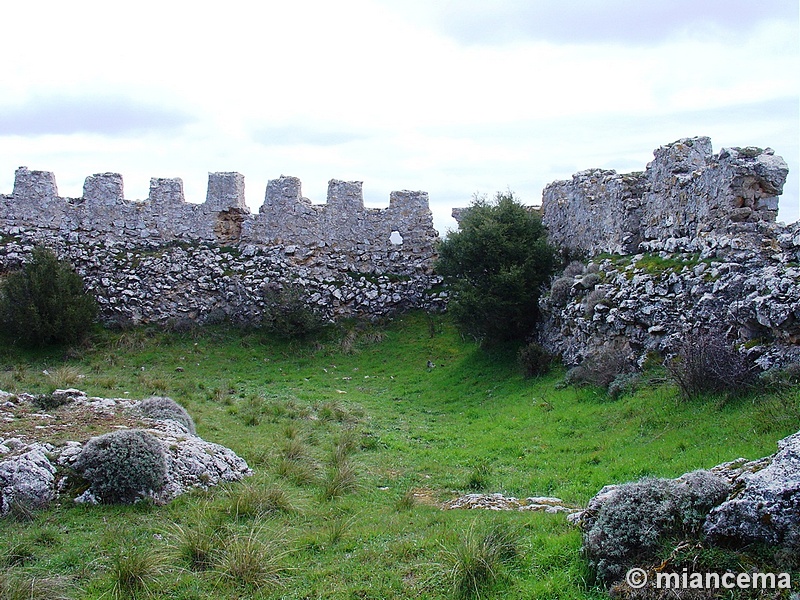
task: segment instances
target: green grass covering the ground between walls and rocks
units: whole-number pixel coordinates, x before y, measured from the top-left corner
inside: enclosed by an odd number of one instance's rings
[[[138,567],[139,595],[452,598],[477,560],[470,548],[496,527],[515,532],[514,559],[481,579],[483,597],[602,598],[563,516],[434,501],[482,488],[585,504],[608,483],[771,454],[800,428],[796,388],[683,402],[662,384],[612,401],[562,388],[563,372],[525,379],[514,349],[480,350],[421,313],[319,343],[139,329],[98,331],[69,351],[0,352],[0,389],[50,392],[47,371],[91,395],[167,395],[255,470],[163,507],[66,501],[0,520],[6,580],[68,582],[74,598],[114,593],[121,540],[158,559],[155,574]]]

